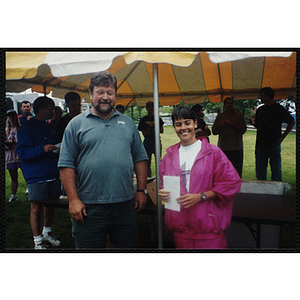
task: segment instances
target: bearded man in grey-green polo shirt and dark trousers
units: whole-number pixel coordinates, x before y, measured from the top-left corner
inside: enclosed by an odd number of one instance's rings
[[[107,233],[118,248],[137,245],[147,154],[133,120],[114,108],[116,91],[114,75],[96,73],[89,87],[91,109],[74,117],[64,133],[58,167],[76,248],[105,248]]]

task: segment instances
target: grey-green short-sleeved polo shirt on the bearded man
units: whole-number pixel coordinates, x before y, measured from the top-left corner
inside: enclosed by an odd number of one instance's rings
[[[135,197],[134,164],[147,159],[131,118],[115,109],[105,121],[87,110],[66,127],[58,167],[75,169],[83,203],[117,203]]]

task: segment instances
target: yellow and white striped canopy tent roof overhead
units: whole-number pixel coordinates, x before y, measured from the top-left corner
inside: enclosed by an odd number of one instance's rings
[[[295,52],[6,52],[7,92],[64,98],[76,91],[90,102],[92,74],[108,70],[118,80],[117,102],[144,106],[153,100],[153,64],[158,66],[162,106],[257,99],[270,86],[277,99],[296,96]]]

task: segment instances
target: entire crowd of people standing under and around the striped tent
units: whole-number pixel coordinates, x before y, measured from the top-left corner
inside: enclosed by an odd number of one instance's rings
[[[55,209],[49,204],[59,202],[62,190],[68,197],[77,249],[105,248],[107,235],[115,247],[137,247],[138,212],[146,206],[151,156],[156,154],[153,102],[146,103],[147,115],[136,127],[124,114],[124,106],[115,106],[116,92],[115,76],[99,72],[91,78],[91,107],[84,112],[75,92],[65,95],[68,113],[64,116],[46,96],[38,97],[33,107],[23,101],[19,117],[15,110],[7,111],[8,203],[19,200],[20,169],[31,203],[34,249],[45,250],[47,243],[61,245],[52,232]],[[280,144],[295,122],[274,102],[271,88],[263,88],[260,98],[264,105],[251,119],[257,128],[256,177],[266,180],[270,161],[272,180],[281,181]],[[175,201],[180,210],[165,209],[166,226],[179,249],[227,248],[224,233],[231,221],[233,198],[242,184],[243,134],[247,130],[243,114],[234,109],[233,98],[226,98],[224,112],[216,117],[211,132],[203,113],[199,104],[173,111],[179,142],[166,150],[160,163],[160,201],[172,199],[172,191],[164,187],[167,176],[179,177],[180,196]],[[163,134],[164,122],[161,118],[159,122]],[[282,134],[283,122],[288,126]],[[211,133],[218,135],[217,146],[210,143]],[[159,155],[161,158],[161,151]]]

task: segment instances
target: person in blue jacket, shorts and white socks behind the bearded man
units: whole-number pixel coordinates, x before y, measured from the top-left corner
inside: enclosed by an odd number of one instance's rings
[[[24,177],[28,184],[31,201],[30,224],[34,248],[47,249],[44,241],[59,246],[60,241],[52,234],[53,207],[44,207],[44,227],[41,234],[41,202],[56,201],[61,193],[61,183],[57,168],[56,144],[59,134],[46,120],[51,119],[54,101],[39,97],[33,103],[35,117],[25,122],[18,130],[17,154],[20,157]]]

